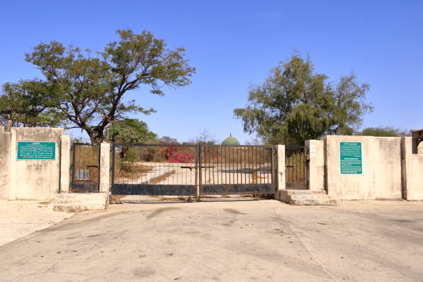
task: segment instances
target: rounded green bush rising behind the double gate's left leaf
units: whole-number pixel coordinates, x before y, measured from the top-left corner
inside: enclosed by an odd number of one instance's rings
[[[156,138],[145,122],[131,118],[115,122],[106,133],[107,142],[115,143],[156,143]]]

